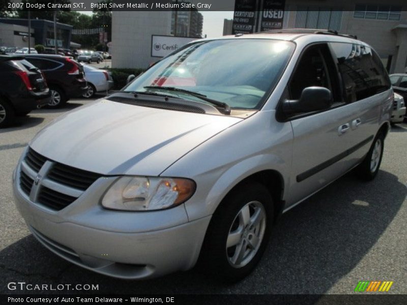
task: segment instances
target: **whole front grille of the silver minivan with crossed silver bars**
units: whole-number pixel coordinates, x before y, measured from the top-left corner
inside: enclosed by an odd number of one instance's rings
[[[41,177],[38,185],[39,189],[38,191],[36,190],[35,197],[36,203],[52,210],[61,210],[74,202],[81,194],[79,191],[86,191],[101,177],[100,174],[94,172],[77,169],[49,160],[30,147],[24,158],[25,169],[20,172],[20,187],[22,192],[27,196],[30,196],[34,180],[47,161],[51,162],[52,165],[49,167],[48,172],[44,173],[44,176]],[[27,167],[31,170],[28,170]],[[46,186],[42,185],[44,179],[48,180]],[[54,187],[54,184],[50,184],[51,181],[56,182],[58,185]],[[54,188],[57,188],[57,190],[54,190]]]

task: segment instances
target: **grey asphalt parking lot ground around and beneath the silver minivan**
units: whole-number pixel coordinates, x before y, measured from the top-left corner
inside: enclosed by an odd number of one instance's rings
[[[88,293],[350,294],[359,281],[378,280],[394,281],[389,293],[407,294],[407,124],[392,128],[374,181],[361,182],[348,173],[284,214],[255,272],[240,283],[218,283],[197,270],[123,281],[52,254],[30,234],[15,208],[12,171],[41,128],[88,102],[36,110],[15,127],[0,130],[0,293],[41,293],[7,288],[9,282],[26,282],[99,285]]]

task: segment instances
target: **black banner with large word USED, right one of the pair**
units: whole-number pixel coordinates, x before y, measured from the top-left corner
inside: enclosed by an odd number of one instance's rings
[[[264,0],[260,32],[283,27],[285,0]]]

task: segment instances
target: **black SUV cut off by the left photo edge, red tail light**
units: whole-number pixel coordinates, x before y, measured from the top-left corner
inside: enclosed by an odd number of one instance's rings
[[[41,71],[21,55],[0,55],[0,127],[16,115],[47,105],[50,90]]]

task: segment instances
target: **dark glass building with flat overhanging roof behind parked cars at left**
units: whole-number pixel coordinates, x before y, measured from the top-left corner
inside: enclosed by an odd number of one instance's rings
[[[20,25],[28,27],[27,19],[0,18],[0,23]],[[55,46],[54,42],[54,23],[49,20],[32,19],[31,28],[34,30],[35,44],[41,44],[45,47]],[[72,37],[72,25],[56,23],[56,46],[69,49]],[[34,45],[33,45],[34,46]]]

